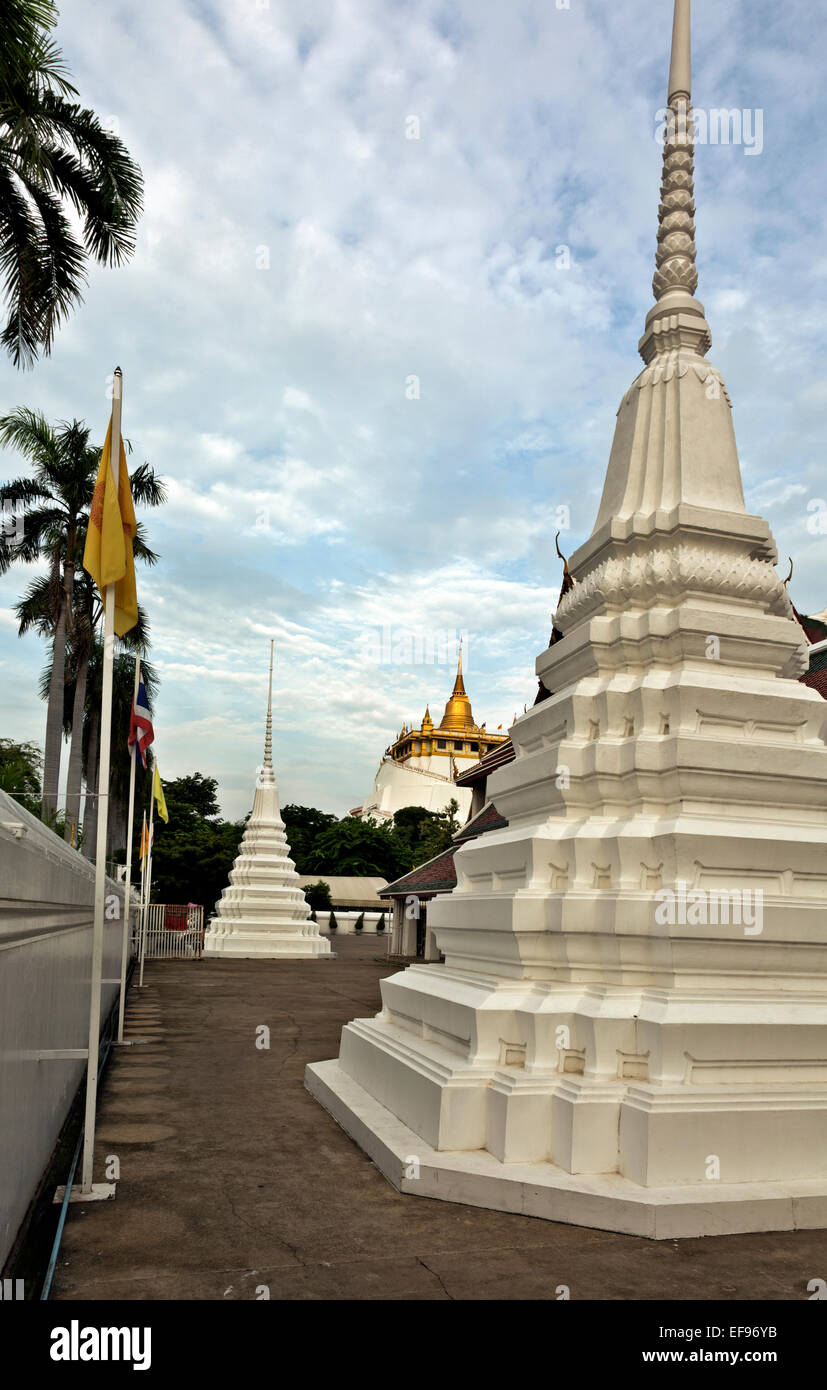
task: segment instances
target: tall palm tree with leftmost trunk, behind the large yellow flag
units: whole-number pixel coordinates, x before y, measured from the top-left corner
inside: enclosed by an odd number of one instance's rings
[[[100,460],[100,446],[92,445],[89,435],[90,430],[82,420],[72,420],[71,424],[61,421],[54,427],[40,411],[25,407],[0,418],[0,443],[19,449],[33,466],[33,478],[15,478],[0,485],[0,493],[24,514],[19,543],[0,545],[0,574],[17,559],[49,562],[47,592],[35,581],[22,600],[22,613],[31,619],[28,626],[43,631],[46,623],[54,638],[43,751],[46,819],[57,813],[67,635],[74,613],[75,571],[83,553]],[[129,482],[136,503],[154,507],[164,502],[165,489],[147,463],[135,468]],[[142,548],[145,559],[154,563],[157,556],[146,546],[139,527],[135,553],[140,553]],[[47,600],[47,610],[42,599]],[[21,623],[22,613],[18,612]],[[25,627],[21,630],[25,631]]]

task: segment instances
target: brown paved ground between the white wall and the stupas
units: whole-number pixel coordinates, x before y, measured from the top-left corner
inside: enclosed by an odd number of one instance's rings
[[[69,1208],[53,1298],[806,1300],[827,1277],[823,1232],[653,1243],[396,1193],[303,1088],[391,973],[375,941],[336,949],[147,963],[126,1036],[152,1041],[101,1095],[118,1195]]]

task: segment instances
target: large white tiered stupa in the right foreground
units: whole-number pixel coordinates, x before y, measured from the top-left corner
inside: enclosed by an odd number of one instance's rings
[[[429,903],[445,963],[306,1080],[403,1191],[657,1238],[827,1226],[827,706],[694,297],[689,0],[669,107],[645,368],[507,828]]]

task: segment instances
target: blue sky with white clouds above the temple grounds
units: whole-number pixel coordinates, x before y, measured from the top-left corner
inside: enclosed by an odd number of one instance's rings
[[[763,113],[760,153],[698,150],[710,357],[748,505],[816,612],[827,10],[694,10],[696,107]],[[165,778],[249,809],[271,635],[282,799],[339,815],[402,721],[442,709],[460,632],[480,721],[532,699],[560,509],[570,550],[641,366],[670,28],[671,0],[63,0],[146,213],[53,356],[0,364],[0,407],[103,439],[124,368],[125,434],[170,488],[139,575]],[[24,582],[0,581],[0,733],[42,741]]]

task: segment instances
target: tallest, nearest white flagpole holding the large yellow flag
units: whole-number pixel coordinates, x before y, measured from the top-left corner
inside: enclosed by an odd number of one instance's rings
[[[121,478],[121,407],[124,378],[113,378],[110,468],[118,496]],[[86,1108],[83,1119],[82,1191],[92,1191],[95,1168],[95,1118],[97,1112],[97,1054],[100,1047],[100,979],[103,973],[103,915],[106,898],[106,847],[110,808],[110,752],[113,733],[113,664],[115,646],[115,585],[107,584],[103,605],[103,694],[100,698],[100,763],[97,771],[97,848],[95,855],[95,919],[92,927],[92,988],[89,998],[89,1051],[86,1056]],[[126,909],[128,910],[128,909]]]

